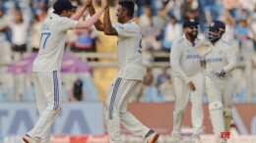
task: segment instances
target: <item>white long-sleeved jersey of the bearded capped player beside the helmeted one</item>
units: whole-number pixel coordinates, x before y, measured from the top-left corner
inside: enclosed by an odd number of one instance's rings
[[[188,83],[189,76],[201,71],[200,57],[196,47],[199,43],[196,39],[195,45],[186,39],[185,35],[175,39],[171,46],[170,67],[174,76]]]

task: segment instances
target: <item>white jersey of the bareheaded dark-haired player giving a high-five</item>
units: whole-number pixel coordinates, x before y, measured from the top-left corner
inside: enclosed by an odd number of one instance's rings
[[[142,32],[135,20],[127,24],[114,24],[118,32],[118,77],[143,80]]]

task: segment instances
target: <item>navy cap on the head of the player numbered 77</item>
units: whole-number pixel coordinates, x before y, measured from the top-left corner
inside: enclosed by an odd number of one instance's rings
[[[57,0],[53,5],[54,11],[72,10],[76,8],[69,0]]]

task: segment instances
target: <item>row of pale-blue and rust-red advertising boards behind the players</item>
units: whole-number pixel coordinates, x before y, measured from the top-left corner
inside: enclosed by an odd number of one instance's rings
[[[104,134],[103,103],[64,103],[62,111],[51,126],[52,134]],[[130,111],[145,125],[158,130],[161,134],[170,134],[173,124],[173,103],[134,103]],[[256,105],[235,104],[232,109],[233,124],[238,134],[256,135]],[[204,124],[202,133],[213,134],[208,104],[204,104]],[[0,141],[11,135],[24,135],[32,129],[38,119],[34,103],[0,104]],[[122,128],[123,134],[129,132]],[[182,127],[183,135],[191,135],[191,104],[188,104]]]

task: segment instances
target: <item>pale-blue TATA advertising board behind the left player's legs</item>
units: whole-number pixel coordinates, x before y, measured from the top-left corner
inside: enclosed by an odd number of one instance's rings
[[[0,104],[0,137],[24,135],[38,119],[34,103]],[[64,103],[51,126],[52,134],[104,134],[102,103]]]

